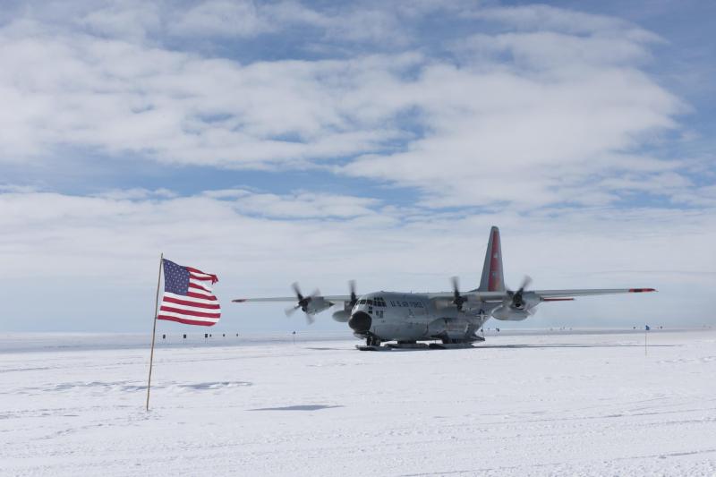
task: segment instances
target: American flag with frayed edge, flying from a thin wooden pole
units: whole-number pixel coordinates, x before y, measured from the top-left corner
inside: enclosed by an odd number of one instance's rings
[[[221,317],[211,285],[216,275],[164,259],[164,295],[157,319],[210,327]]]

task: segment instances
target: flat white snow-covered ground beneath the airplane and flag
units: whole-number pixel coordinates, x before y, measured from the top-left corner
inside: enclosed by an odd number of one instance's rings
[[[23,339],[0,353],[3,475],[716,474],[713,330],[646,356],[643,334],[161,345],[149,413],[148,349]]]

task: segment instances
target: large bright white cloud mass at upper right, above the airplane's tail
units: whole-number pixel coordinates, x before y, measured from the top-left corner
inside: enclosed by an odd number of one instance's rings
[[[617,190],[592,177],[631,171],[630,164],[642,173],[662,170],[663,161],[615,165],[613,158],[634,157],[630,151],[677,128],[674,116],[685,111],[632,65],[648,55],[641,41],[627,37],[469,38],[458,48],[463,67],[431,65],[410,85],[425,112],[425,136],[405,151],[359,158],[345,173],[399,177],[437,207],[540,207],[575,201],[575,184],[581,203],[616,200]]]

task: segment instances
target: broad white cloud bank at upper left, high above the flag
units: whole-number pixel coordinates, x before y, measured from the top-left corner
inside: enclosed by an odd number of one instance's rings
[[[398,75],[401,56],[241,66],[84,35],[3,33],[0,160],[41,158],[72,144],[260,167],[377,149],[401,134],[376,127],[393,111],[380,108],[384,115],[363,121],[371,105],[342,106],[357,81]]]

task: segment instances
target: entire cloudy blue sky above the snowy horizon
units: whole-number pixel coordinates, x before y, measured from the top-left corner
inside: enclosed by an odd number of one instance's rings
[[[230,300],[469,289],[490,226],[507,285],[659,289],[524,327],[714,321],[716,4],[3,5],[0,331],[149,331],[163,252],[212,331],[347,334]]]

